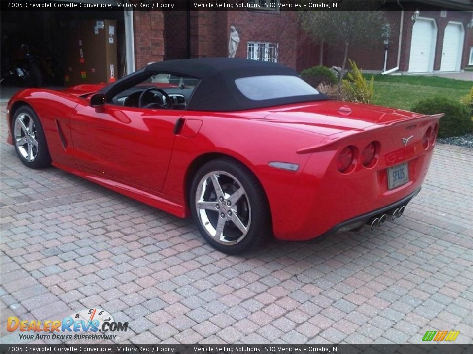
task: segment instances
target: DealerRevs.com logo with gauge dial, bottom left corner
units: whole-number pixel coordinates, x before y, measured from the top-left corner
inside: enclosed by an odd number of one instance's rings
[[[128,322],[115,322],[107,311],[91,308],[76,312],[62,320],[20,320],[12,316],[7,319],[6,329],[8,332],[17,330],[26,332],[19,334],[20,339],[24,340],[113,340],[117,335],[111,332],[126,332]]]

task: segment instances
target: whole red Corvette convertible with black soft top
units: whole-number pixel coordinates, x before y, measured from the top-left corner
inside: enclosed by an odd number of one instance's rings
[[[227,253],[401,216],[441,117],[331,101],[290,68],[228,58],[157,62],[108,86],[25,89],[7,109],[8,142],[26,166],[192,214]]]

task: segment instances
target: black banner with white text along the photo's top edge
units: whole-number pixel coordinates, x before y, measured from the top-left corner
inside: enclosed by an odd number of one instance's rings
[[[9,10],[133,10],[133,11],[360,11],[416,9],[472,10],[473,0],[0,0]]]

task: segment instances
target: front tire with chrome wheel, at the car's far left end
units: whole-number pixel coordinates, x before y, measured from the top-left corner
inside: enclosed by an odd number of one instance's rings
[[[43,127],[31,107],[22,106],[15,112],[12,132],[16,153],[25,166],[36,169],[51,165]]]

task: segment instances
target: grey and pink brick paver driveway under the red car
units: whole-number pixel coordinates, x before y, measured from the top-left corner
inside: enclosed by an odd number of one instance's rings
[[[374,232],[210,248],[180,220],[55,168],[29,170],[1,121],[1,318],[92,306],[117,342],[472,342],[473,150],[436,147],[421,193]],[[126,148],[126,147],[124,147]],[[316,217],[316,215],[315,215]]]

